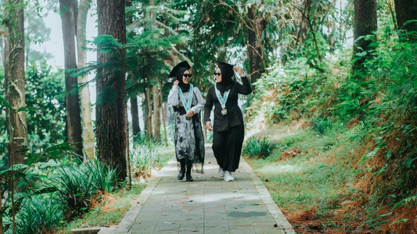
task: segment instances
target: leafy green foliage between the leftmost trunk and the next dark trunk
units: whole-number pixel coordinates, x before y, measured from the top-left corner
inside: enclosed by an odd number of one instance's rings
[[[26,115],[29,147],[44,149],[66,141],[65,79],[61,73],[52,72],[46,60],[26,67],[26,105],[46,112],[28,112]]]

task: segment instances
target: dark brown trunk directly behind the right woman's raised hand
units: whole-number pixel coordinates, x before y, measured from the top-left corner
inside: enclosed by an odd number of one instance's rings
[[[248,8],[249,18],[249,66],[250,66],[250,81],[252,84],[265,72],[263,64],[263,42],[265,35],[263,32],[266,28],[265,19],[260,19],[256,13],[256,5]],[[262,38],[262,35],[264,36]]]

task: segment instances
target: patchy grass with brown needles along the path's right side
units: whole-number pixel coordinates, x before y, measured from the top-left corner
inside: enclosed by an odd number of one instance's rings
[[[364,146],[350,140],[360,130],[340,126],[316,135],[299,122],[268,127],[260,134],[276,140],[277,148],[267,158],[245,159],[298,233],[351,232],[363,223],[363,211],[341,212],[341,203],[355,202],[355,178],[363,172]]]

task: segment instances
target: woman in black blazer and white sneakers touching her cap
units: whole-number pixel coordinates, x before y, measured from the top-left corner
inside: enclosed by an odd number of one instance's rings
[[[236,70],[242,84],[236,82]],[[225,62],[218,62],[214,73],[216,85],[209,88],[204,105],[204,123],[207,130],[213,132],[213,153],[219,164],[219,175],[225,181],[233,181],[231,175],[239,168],[244,138],[243,115],[238,105],[238,94],[249,95],[252,88],[242,69]],[[210,114],[214,104],[214,124]]]

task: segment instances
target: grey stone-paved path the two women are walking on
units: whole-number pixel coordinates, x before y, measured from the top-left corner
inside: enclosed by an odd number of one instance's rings
[[[225,182],[217,173],[211,148],[206,148],[205,174],[193,173],[193,182],[176,179],[173,158],[120,224],[99,234],[295,234],[243,159],[234,182]],[[249,205],[256,203],[261,204]]]

